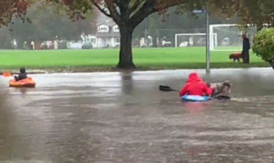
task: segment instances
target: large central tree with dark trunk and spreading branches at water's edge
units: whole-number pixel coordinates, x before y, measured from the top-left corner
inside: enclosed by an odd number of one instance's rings
[[[121,44],[118,68],[135,68],[132,56],[132,34],[137,25],[148,15],[166,13],[166,8],[183,4],[184,8],[199,7],[193,0],[48,0],[65,4],[73,18],[84,17],[85,13],[96,6],[111,17],[120,28]],[[202,0],[201,0],[202,1]],[[198,3],[197,3],[198,4]],[[188,7],[187,7],[188,6]]]

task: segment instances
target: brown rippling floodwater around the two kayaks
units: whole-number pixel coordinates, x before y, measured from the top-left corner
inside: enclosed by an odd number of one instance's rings
[[[231,101],[183,103],[189,70],[0,78],[0,163],[273,163],[274,71],[198,71]]]

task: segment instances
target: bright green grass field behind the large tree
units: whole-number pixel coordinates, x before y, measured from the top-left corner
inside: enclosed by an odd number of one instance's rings
[[[267,63],[255,54],[251,64],[233,63],[227,51],[211,52],[212,68],[266,67]],[[22,66],[32,69],[110,68],[118,63],[119,49],[91,50],[0,50],[0,69],[16,69]],[[134,63],[139,67],[155,69],[205,68],[205,48],[134,48]]]

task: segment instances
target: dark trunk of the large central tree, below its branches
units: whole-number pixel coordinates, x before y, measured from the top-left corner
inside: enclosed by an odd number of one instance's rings
[[[134,69],[132,57],[132,33],[133,29],[128,26],[120,26],[120,56],[117,68]]]

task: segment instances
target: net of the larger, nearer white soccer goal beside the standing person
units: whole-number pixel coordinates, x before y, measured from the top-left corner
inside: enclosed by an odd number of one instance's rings
[[[253,42],[256,27],[249,27],[247,36]],[[213,24],[209,27],[209,33],[216,34],[217,38],[210,37],[210,50],[212,51],[241,51],[243,47],[243,31],[236,24]],[[215,39],[215,40],[212,40]]]

